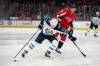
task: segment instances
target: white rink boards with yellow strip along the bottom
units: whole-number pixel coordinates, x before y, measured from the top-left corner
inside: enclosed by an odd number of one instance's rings
[[[39,25],[39,20],[0,20],[0,27],[4,28],[36,28]],[[90,21],[75,21],[74,28],[79,30],[86,30],[90,26]],[[100,25],[99,25],[100,30]]]

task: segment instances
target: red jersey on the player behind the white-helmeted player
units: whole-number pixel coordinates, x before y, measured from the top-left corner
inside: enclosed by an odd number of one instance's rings
[[[61,15],[61,14],[64,14],[64,15],[61,17],[60,25],[63,28],[68,29],[70,27],[70,23],[76,19],[76,14],[71,13],[70,8],[61,9],[60,11],[56,13],[56,16]]]

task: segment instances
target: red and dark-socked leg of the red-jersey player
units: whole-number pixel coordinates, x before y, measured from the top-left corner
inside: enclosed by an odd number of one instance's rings
[[[67,37],[66,35],[60,34],[60,39],[61,40],[59,41],[58,46],[57,46],[57,48],[55,50],[59,54],[61,54],[60,49],[62,48],[64,42],[66,41],[66,37]]]

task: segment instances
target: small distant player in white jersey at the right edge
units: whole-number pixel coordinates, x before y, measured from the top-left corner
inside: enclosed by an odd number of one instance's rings
[[[85,36],[87,36],[87,34],[94,29],[94,36],[95,37],[98,37],[97,36],[97,32],[98,32],[98,25],[100,24],[100,13],[99,12],[96,12],[95,13],[95,16],[93,16],[91,18],[91,24],[90,24],[90,27],[89,27],[89,30],[87,30],[87,32],[85,32]]]

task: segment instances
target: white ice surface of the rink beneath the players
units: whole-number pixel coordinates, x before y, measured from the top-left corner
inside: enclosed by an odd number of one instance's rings
[[[77,37],[77,45],[87,55],[86,58],[81,55],[70,40],[67,40],[61,49],[62,54],[55,52],[48,59],[44,54],[50,43],[45,40],[26,58],[21,58],[19,54],[18,61],[12,61],[36,30],[30,28],[0,28],[0,66],[100,66],[100,32],[98,32],[99,37],[94,37],[93,32],[84,36],[85,31],[81,30],[75,30],[74,36]]]

